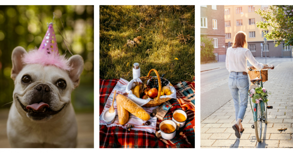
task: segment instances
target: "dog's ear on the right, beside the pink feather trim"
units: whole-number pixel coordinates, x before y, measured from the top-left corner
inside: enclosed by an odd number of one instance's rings
[[[67,60],[67,62],[73,68],[69,71],[69,77],[73,82],[74,88],[76,88],[79,85],[80,74],[83,72],[83,57],[80,55],[73,55]]]

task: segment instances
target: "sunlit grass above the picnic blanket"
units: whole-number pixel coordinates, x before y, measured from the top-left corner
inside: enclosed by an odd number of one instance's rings
[[[154,68],[160,75],[166,74],[165,78],[171,83],[192,81],[195,75],[194,5],[100,6],[99,14],[100,78],[130,81],[132,65],[137,62],[141,76]],[[190,40],[180,43],[179,33],[189,35]],[[127,40],[138,36],[142,37],[139,45],[125,46]]]

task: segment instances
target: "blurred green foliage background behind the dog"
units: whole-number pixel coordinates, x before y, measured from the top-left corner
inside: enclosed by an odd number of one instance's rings
[[[66,40],[72,54],[84,59],[84,70],[80,85],[72,92],[72,104],[77,111],[94,111],[94,6],[92,5],[0,5],[0,109],[11,106],[14,82],[10,78],[12,68],[11,53],[17,46],[26,50],[39,47],[52,22],[56,33],[58,49],[64,54]],[[61,33],[59,32],[59,30]],[[66,57],[70,57],[66,51]],[[9,103],[7,105],[4,105]],[[3,106],[4,105],[4,106]]]

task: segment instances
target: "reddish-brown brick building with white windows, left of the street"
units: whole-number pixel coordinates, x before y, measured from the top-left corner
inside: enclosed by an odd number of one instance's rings
[[[216,60],[226,60],[224,5],[200,5],[200,37],[213,40]]]

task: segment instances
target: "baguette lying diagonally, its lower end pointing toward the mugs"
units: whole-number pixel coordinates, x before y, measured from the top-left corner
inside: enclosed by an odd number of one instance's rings
[[[130,100],[126,96],[118,94],[116,96],[116,102],[120,104],[120,109],[123,107],[125,110],[128,110],[134,116],[142,120],[147,121],[150,119],[150,114],[148,114],[142,107],[134,103],[132,100]],[[119,122],[120,122],[120,119],[119,119]]]

